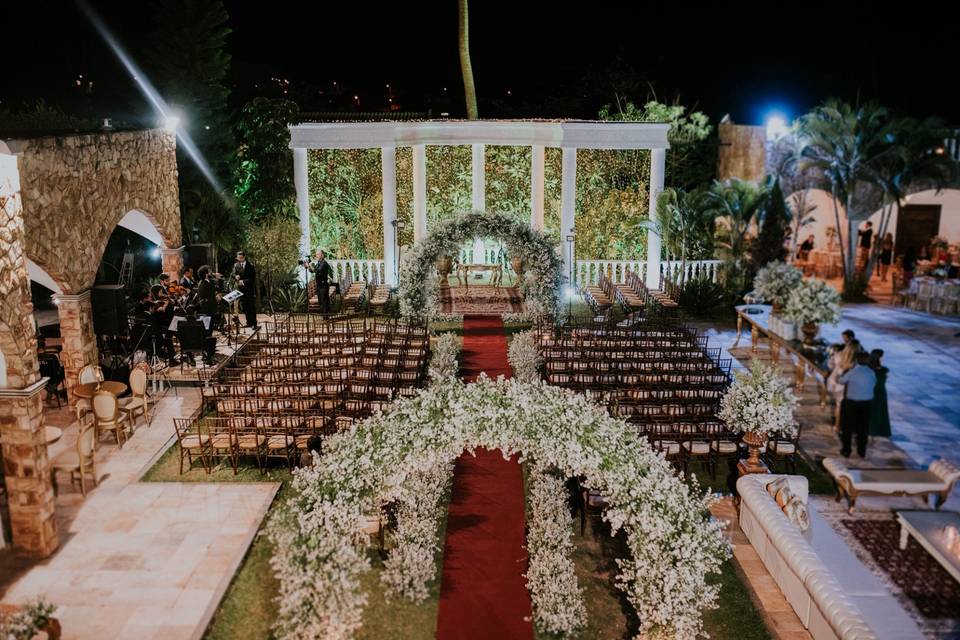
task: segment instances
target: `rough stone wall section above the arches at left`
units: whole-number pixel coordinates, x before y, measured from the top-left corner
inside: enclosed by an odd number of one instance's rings
[[[93,285],[110,234],[141,211],[179,247],[176,138],[160,129],[37,138],[20,154],[26,255],[66,294]]]

